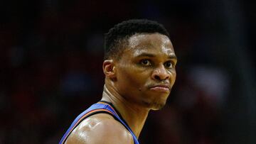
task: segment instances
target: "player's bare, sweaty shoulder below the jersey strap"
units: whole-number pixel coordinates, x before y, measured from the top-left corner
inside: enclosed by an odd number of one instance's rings
[[[66,143],[124,143],[132,144],[131,133],[121,123],[106,113],[98,113],[82,121],[66,140]]]

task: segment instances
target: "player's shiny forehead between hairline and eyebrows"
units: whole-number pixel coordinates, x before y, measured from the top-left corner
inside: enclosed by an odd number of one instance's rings
[[[142,53],[154,52],[174,55],[171,40],[160,33],[139,33],[128,39],[128,48],[125,51]]]

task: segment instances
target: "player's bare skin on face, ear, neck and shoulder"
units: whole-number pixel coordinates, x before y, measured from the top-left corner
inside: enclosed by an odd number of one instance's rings
[[[119,60],[103,62],[102,100],[114,104],[137,138],[149,111],[166,104],[176,79],[176,62],[171,40],[159,33],[132,35]],[[106,113],[99,113],[82,121],[66,143],[134,142],[121,123]]]

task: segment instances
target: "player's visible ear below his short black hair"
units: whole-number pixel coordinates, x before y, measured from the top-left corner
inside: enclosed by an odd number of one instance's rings
[[[113,60],[104,60],[102,68],[106,77],[109,77],[110,79],[116,78],[116,70]]]

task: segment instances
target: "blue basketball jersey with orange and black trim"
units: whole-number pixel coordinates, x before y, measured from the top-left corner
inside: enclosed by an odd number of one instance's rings
[[[93,104],[92,106],[90,106],[89,109],[86,109],[85,111],[80,113],[80,115],[77,118],[75,118],[75,121],[73,121],[70,128],[68,128],[68,131],[65,133],[65,135],[63,135],[63,138],[61,138],[59,144],[65,143],[65,140],[68,138],[68,135],[70,135],[70,133],[80,124],[80,122],[83,121],[85,118],[92,116],[95,113],[109,113],[110,115],[112,115],[114,119],[122,123],[122,125],[125,128],[127,128],[127,130],[132,134],[134,144],[139,144],[139,141],[137,140],[137,137],[132,132],[131,128],[129,128],[129,126],[124,121],[122,116],[118,115],[118,111],[114,109],[114,106],[108,103],[107,101],[99,101],[96,104]]]

